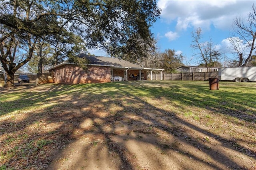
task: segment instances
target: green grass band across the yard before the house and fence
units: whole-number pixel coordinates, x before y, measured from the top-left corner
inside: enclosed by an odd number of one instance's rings
[[[44,91],[44,87],[50,90]],[[20,91],[1,94],[1,115],[20,114],[59,105],[58,99],[68,95],[72,99],[96,100],[98,98],[120,99],[133,96],[163,108],[175,104],[172,112],[177,114],[195,107],[216,111],[216,115],[246,119],[255,116],[256,83],[220,82],[220,90],[209,90],[207,81],[130,81],[83,85],[42,85],[42,91]],[[55,100],[56,99],[56,100]],[[155,100],[161,100],[154,103]],[[48,102],[53,101],[53,102]],[[173,107],[173,106],[172,106]],[[184,110],[184,108],[186,108]],[[242,114],[242,115],[241,115]],[[242,118],[244,117],[244,118]],[[247,119],[246,119],[247,120]],[[253,121],[253,120],[248,120]]]

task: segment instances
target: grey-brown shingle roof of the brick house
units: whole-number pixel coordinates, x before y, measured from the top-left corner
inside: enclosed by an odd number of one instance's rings
[[[133,68],[142,68],[136,64],[130,63],[123,59],[117,59],[112,57],[100,57],[94,55],[86,55],[84,53],[80,53],[78,57],[85,57],[90,61],[90,64],[96,65],[114,65],[114,67],[133,67]]]

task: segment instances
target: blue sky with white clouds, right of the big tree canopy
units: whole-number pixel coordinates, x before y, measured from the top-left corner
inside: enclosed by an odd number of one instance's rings
[[[160,52],[165,49],[174,49],[182,53],[188,60],[188,65],[197,65],[197,57],[193,56],[191,32],[202,28],[202,36],[205,41],[212,38],[216,48],[227,57],[233,57],[228,53],[228,39],[232,34],[233,21],[238,16],[244,20],[256,5],[256,0],[158,0],[158,7],[162,10],[160,19],[151,28]],[[104,51],[90,50],[94,55],[108,56]],[[222,60],[223,62],[223,60]],[[186,64],[186,61],[183,62]]]

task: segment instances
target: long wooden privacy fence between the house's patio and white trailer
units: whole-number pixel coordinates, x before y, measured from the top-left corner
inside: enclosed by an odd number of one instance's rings
[[[151,75],[148,75],[150,79]],[[218,78],[218,72],[195,72],[195,73],[164,73],[162,80],[209,80],[209,78]],[[152,74],[152,80],[161,80],[161,74]]]

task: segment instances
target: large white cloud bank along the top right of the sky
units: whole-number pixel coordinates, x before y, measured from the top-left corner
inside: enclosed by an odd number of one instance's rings
[[[166,23],[176,21],[177,30],[189,27],[210,29],[210,25],[229,30],[236,16],[247,16],[253,1],[236,0],[159,0],[161,18]]]

